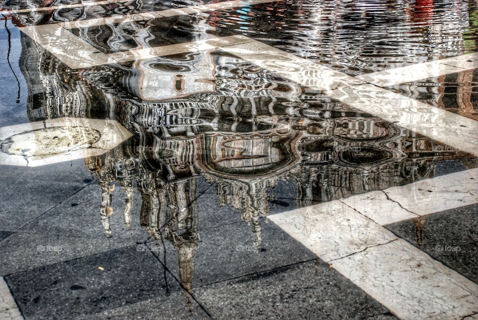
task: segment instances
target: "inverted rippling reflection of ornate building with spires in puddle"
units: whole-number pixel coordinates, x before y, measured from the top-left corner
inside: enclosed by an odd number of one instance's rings
[[[189,30],[187,41],[217,31],[199,17],[178,19]],[[151,21],[99,28],[75,32],[117,51],[163,40]],[[164,232],[178,250],[181,281],[189,291],[200,241],[199,175],[216,183],[221,205],[230,203],[251,225],[260,249],[260,217],[269,214],[271,191],[280,180],[292,181],[298,204],[309,205],[432,177],[435,161],[467,157],[219,51],[71,71],[42,48],[35,50],[38,61],[31,52],[22,59],[31,119],[107,118],[134,134],[86,160],[102,188],[102,223],[111,236],[112,182],[118,181],[130,227],[136,184],[141,225],[158,244]]]

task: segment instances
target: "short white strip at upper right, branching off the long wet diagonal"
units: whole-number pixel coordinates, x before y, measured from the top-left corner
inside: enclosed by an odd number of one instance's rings
[[[387,87],[476,68],[478,68],[478,53],[470,53],[431,62],[412,64],[401,68],[367,73],[356,78],[380,87]]]

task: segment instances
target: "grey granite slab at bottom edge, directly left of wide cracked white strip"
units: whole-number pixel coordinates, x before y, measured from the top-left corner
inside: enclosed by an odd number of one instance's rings
[[[215,319],[366,319],[387,312],[320,260],[204,286],[194,296]]]

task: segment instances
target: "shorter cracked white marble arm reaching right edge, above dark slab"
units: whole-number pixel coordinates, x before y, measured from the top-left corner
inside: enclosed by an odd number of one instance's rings
[[[478,203],[478,168],[354,195],[340,201],[380,225],[471,205]]]

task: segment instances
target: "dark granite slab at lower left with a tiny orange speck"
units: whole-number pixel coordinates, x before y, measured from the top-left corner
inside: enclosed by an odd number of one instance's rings
[[[71,319],[148,299],[156,299],[159,306],[179,304],[182,297],[186,306],[183,289],[164,272],[150,252],[133,246],[16,273],[5,280],[26,319]],[[183,312],[187,315],[187,308]]]

